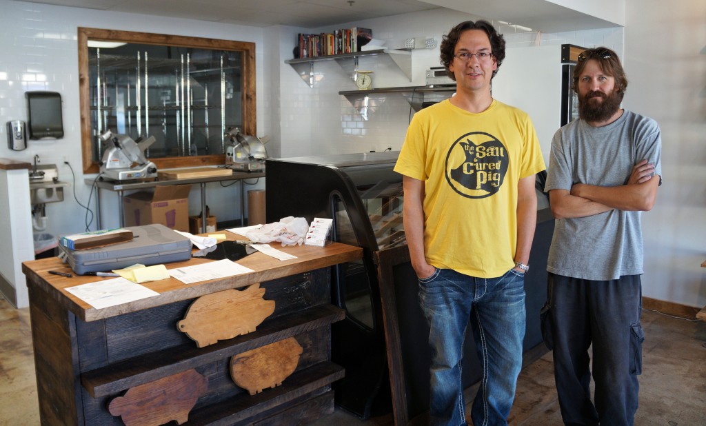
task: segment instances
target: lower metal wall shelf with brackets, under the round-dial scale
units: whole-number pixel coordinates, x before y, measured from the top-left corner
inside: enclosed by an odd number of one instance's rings
[[[452,97],[456,92],[456,86],[405,86],[405,87],[381,87],[371,90],[343,90],[338,92],[348,99],[348,102],[358,111],[364,120],[368,120],[369,114],[381,107],[388,94],[399,94],[407,99],[414,111],[419,111],[436,102]],[[372,98],[372,99],[371,99]]]

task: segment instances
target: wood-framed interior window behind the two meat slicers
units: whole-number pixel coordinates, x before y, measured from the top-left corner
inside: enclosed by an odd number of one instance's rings
[[[78,67],[86,174],[106,130],[154,136],[158,169],[225,164],[227,130],[256,135],[254,43],[78,28]]]

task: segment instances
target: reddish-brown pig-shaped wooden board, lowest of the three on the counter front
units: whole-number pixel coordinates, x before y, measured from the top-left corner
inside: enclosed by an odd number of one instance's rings
[[[127,426],[164,425],[172,420],[181,425],[206,389],[208,377],[186,370],[128,389],[110,401],[108,410]]]

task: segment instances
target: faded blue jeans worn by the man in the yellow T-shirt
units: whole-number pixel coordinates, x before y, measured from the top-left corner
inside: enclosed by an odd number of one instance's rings
[[[471,418],[475,426],[507,425],[522,367],[524,274],[510,269],[483,279],[436,269],[419,280],[419,305],[429,324],[431,424],[466,424],[461,361],[470,319],[483,368]]]

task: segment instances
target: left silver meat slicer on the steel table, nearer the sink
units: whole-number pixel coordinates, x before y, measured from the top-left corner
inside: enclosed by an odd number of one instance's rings
[[[101,177],[107,181],[154,178],[157,166],[145,157],[145,150],[155,137],[132,140],[128,135],[113,135],[110,130],[100,135],[107,147],[100,164]]]

